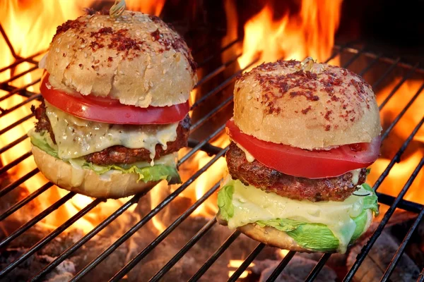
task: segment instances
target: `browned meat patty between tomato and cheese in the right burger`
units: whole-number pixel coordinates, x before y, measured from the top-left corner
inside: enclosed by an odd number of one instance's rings
[[[239,179],[245,185],[250,184],[266,192],[275,192],[294,200],[343,201],[357,190],[356,185],[352,183],[352,173],[320,179],[289,176],[264,166],[257,160],[250,163],[246,159],[245,152],[234,142],[230,144],[225,158],[232,178]],[[365,182],[366,175],[367,170],[362,168],[357,185]]]

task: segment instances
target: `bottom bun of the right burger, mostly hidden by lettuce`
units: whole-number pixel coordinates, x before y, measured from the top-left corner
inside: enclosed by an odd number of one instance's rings
[[[367,229],[370,227],[371,221],[372,221],[372,211],[370,209],[367,210],[368,219],[367,223],[365,224],[365,228],[363,233],[367,231]],[[220,216],[218,214],[218,223],[221,225],[227,225],[227,222],[223,219],[220,219]],[[310,250],[306,249],[305,247],[301,247],[296,243],[296,241],[291,238],[287,233],[284,231],[279,231],[276,228],[265,226],[264,228],[260,227],[259,225],[255,223],[249,223],[245,226],[237,227],[237,230],[241,233],[247,235],[248,237],[252,238],[253,240],[257,240],[261,243],[264,243],[266,245],[271,245],[273,247],[279,247],[280,249],[284,250],[290,250],[295,252],[319,252],[316,250]],[[337,250],[328,251],[328,252],[337,252]]]

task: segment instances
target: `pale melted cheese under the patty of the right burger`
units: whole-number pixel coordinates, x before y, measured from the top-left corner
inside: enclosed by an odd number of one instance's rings
[[[310,202],[292,200],[273,192],[264,192],[252,185],[245,186],[240,180],[231,180],[234,185],[232,204],[234,215],[228,220],[228,227],[237,228],[247,223],[271,219],[293,219],[307,223],[325,224],[336,238],[340,250],[350,242],[356,223],[352,218],[363,211],[363,197],[352,195],[343,202]],[[367,194],[363,188],[358,195]]]

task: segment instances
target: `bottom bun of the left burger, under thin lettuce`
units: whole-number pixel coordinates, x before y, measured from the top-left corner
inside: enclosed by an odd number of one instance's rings
[[[60,188],[89,197],[117,199],[147,192],[159,181],[144,183],[136,173],[112,171],[98,175],[86,168],[78,168],[61,161],[33,146],[35,164],[45,177]]]

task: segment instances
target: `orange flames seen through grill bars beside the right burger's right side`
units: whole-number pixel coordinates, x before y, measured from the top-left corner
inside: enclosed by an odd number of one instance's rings
[[[382,104],[384,99],[389,95],[391,90],[397,85],[400,81],[400,78],[394,80],[389,85],[384,87],[383,90],[377,92],[377,103]],[[416,94],[419,87],[423,84],[423,80],[407,80],[404,84],[397,90],[394,96],[389,100],[389,102],[382,108],[380,111],[380,116],[382,119],[382,124],[384,128],[396,118],[399,112],[404,109],[406,104],[411,100],[414,94]],[[382,145],[382,156],[377,159],[375,164],[371,166],[371,173],[368,176],[369,183],[375,183],[375,181],[382,174],[384,169],[389,165],[390,160],[394,157],[397,150],[401,147],[402,143],[408,136],[412,133],[413,128],[419,123],[420,118],[422,117],[424,109],[424,100],[417,99],[411,107],[406,111],[404,117],[399,120],[386,140],[383,141]],[[385,126],[384,126],[385,125]],[[396,197],[399,194],[401,188],[404,187],[409,176],[411,176],[412,171],[420,159],[424,157],[424,129],[421,128],[418,130],[418,133],[414,137],[413,141],[404,152],[401,157],[401,162],[395,164],[391,168],[389,176],[384,180],[382,185],[379,187],[379,192],[384,192],[386,194]],[[419,202],[424,204],[424,195],[420,192],[420,188],[424,185],[424,173],[421,171],[416,180],[409,188],[408,193],[406,193],[404,199],[410,200],[413,202]]]

